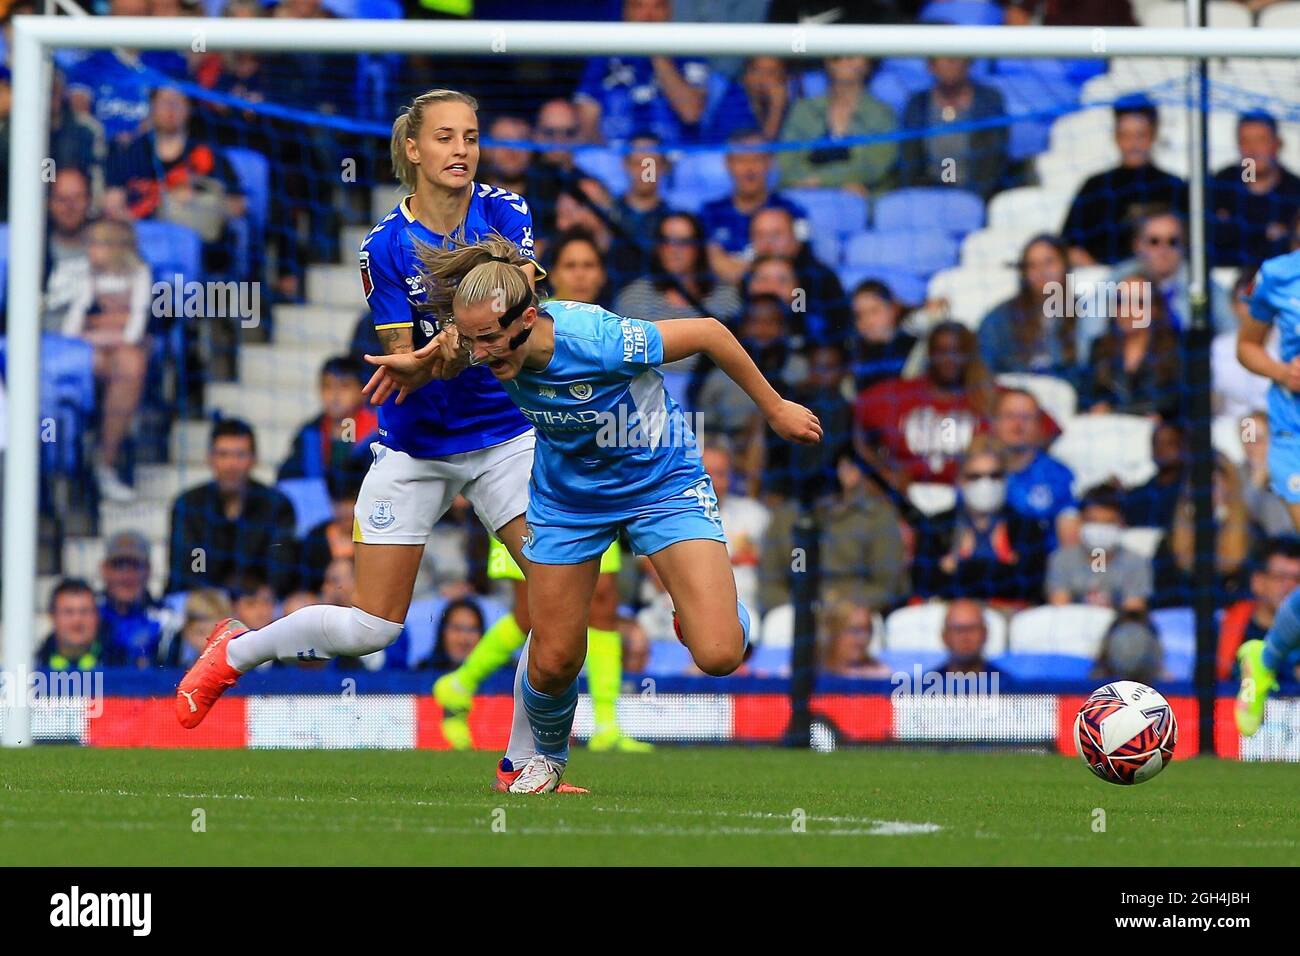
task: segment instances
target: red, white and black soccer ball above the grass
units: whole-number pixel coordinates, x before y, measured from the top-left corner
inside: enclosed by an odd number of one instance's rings
[[[1156,688],[1112,680],[1079,708],[1074,743],[1079,760],[1106,783],[1145,783],[1174,758],[1178,723]]]

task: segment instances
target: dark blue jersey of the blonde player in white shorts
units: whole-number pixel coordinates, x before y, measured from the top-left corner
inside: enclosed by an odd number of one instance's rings
[[[533,217],[523,196],[477,182],[471,190],[464,239],[474,242],[497,232],[533,259]],[[434,316],[419,310],[425,294],[415,241],[441,246],[446,237],[416,221],[408,199],[398,203],[361,243],[361,287],[376,330],[412,329],[419,349],[437,328]],[[537,274],[543,274],[541,268]],[[432,381],[402,405],[390,398],[380,406],[378,441],[415,458],[477,451],[526,431],[528,423],[486,365],[467,368],[448,381]]]

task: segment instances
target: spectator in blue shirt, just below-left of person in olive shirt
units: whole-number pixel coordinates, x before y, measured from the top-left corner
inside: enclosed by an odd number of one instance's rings
[[[757,130],[742,130],[734,134],[728,146],[727,172],[732,178],[732,194],[705,203],[699,208],[699,221],[705,226],[708,242],[708,264],[723,282],[738,282],[753,250],[749,247],[749,226],[759,209],[786,209],[794,219],[796,235],[807,238],[807,222],[803,208],[772,193],[767,179],[772,169],[772,153],[760,150],[746,150],[746,146],[762,146],[767,140]]]

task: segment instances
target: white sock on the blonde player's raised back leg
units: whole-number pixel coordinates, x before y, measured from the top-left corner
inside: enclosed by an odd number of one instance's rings
[[[242,633],[226,645],[226,659],[237,671],[266,661],[328,661],[363,657],[398,639],[402,624],[367,614],[360,607],[309,605],[260,631]]]

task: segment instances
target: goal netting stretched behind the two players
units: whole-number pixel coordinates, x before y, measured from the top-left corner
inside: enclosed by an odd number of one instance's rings
[[[550,291],[655,320],[716,315],[826,424],[822,447],[792,450],[716,369],[666,369],[698,414],[757,650],[738,676],[699,676],[666,594],[625,553],[624,732],[783,739],[805,510],[820,745],[1071,752],[1079,700],[1132,676],[1174,701],[1195,752],[1199,460],[1213,473],[1217,693],[1234,692],[1264,578],[1300,572],[1277,544],[1295,529],[1266,475],[1264,384],[1234,349],[1249,276],[1296,235],[1300,181],[1271,165],[1278,143],[1300,169],[1294,61],[1210,64],[1208,381],[1190,373],[1180,60],[690,60],[696,122],[598,51],[56,64],[32,643],[42,667],[105,669],[107,706],[38,713],[38,739],[187,745],[170,688],[214,620],[351,604],[351,505],[376,428],[360,356],[380,349],[358,250],[403,196],[393,118],[437,87],[478,99],[477,189],[526,200]],[[590,103],[602,112],[584,129]],[[828,125],[828,103],[850,104],[846,124],[836,105]],[[737,208],[750,196],[772,212]],[[556,260],[575,232],[603,282]],[[1196,418],[1206,392],[1213,421]],[[255,437],[252,480],[274,489],[238,519],[221,489],[243,464],[213,444],[231,419]],[[143,604],[127,600],[139,575]],[[100,606],[81,656],[77,626],[51,617],[56,589],[75,598],[69,579]],[[445,747],[428,689],[467,649],[445,626],[462,597],[484,626],[512,600],[458,502],[398,644],[255,675],[203,743]],[[975,623],[953,615],[963,601]],[[47,641],[55,630],[66,640]],[[979,678],[923,696],[931,675],[966,670]],[[511,674],[482,688],[482,747],[508,730]],[[1219,750],[1300,758],[1294,700],[1270,708],[1271,730],[1247,741],[1221,706]],[[584,704],[580,739],[590,726]]]

